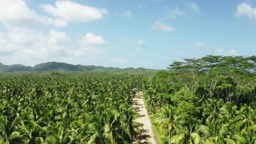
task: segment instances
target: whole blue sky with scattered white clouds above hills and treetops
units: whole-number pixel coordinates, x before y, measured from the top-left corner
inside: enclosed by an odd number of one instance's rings
[[[256,0],[0,0],[0,62],[165,69],[256,55]]]

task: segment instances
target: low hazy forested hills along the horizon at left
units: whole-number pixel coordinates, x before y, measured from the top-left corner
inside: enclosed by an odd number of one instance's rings
[[[102,67],[95,65],[73,65],[67,63],[59,63],[59,62],[47,62],[40,63],[35,65],[34,67],[25,66],[21,64],[13,64],[13,65],[4,65],[0,63],[0,73],[11,73],[17,71],[124,71],[124,70],[132,70],[132,71],[156,71],[154,69],[145,69],[145,68],[114,68],[114,67]]]

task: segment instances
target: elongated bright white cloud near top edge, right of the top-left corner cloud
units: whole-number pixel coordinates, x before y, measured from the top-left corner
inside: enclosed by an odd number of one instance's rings
[[[108,14],[106,9],[97,9],[71,1],[57,1],[55,7],[50,4],[42,4],[41,7],[57,19],[66,22],[90,22],[102,19],[104,14]]]

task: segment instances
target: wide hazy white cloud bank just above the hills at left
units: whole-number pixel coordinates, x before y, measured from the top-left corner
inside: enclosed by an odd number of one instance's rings
[[[0,61],[33,65],[48,61],[89,62],[104,57],[104,51],[97,47],[105,43],[101,36],[90,33],[84,38],[84,43],[73,47],[74,40],[63,32],[7,26],[6,33],[0,33]]]

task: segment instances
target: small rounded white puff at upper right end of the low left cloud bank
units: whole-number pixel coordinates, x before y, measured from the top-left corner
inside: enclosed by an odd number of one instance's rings
[[[105,40],[101,36],[92,33],[86,33],[80,41],[86,46],[100,46],[105,44]]]

